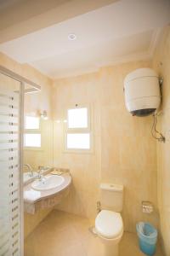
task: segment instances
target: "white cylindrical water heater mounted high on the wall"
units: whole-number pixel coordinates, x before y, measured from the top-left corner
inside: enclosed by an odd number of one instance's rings
[[[146,116],[156,111],[161,103],[160,83],[151,68],[139,68],[124,79],[127,110],[136,116]]]

